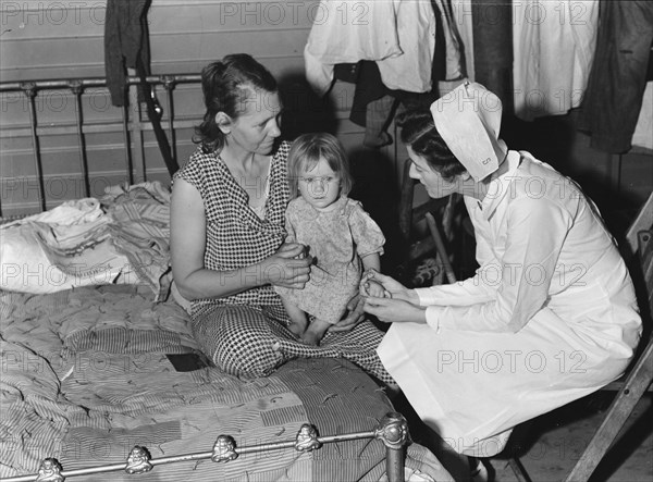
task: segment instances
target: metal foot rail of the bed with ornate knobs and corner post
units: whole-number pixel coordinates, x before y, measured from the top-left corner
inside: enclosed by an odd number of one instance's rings
[[[163,466],[167,464],[178,464],[202,459],[229,464],[229,461],[235,460],[242,454],[257,454],[283,448],[295,448],[297,452],[311,452],[319,449],[323,444],[361,438],[377,438],[385,445],[385,473],[387,480],[389,482],[403,482],[405,447],[408,445],[410,438],[406,419],[401,413],[394,411],[391,411],[383,417],[377,429],[369,432],[319,436],[318,431],[313,425],[305,423],[297,432],[295,440],[287,442],[238,447],[232,436],[220,435],[215,440],[213,448],[210,452],[160,458],[150,458],[147,447],[136,445],[132,448],[125,464],[64,470],[56,458],[46,458],[42,460],[38,473],[0,480],[2,482],[63,482],[67,478],[75,475],[89,475],[119,470],[123,470],[128,474],[138,474],[149,472],[150,470],[155,470],[156,466]]]

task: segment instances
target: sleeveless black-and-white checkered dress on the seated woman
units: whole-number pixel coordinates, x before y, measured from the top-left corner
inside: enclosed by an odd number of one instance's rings
[[[252,265],[272,256],[283,243],[289,147],[289,143],[282,143],[272,158],[263,220],[249,208],[247,194],[217,153],[198,149],[175,174],[175,178],[195,186],[204,199],[207,269],[230,271]],[[313,347],[296,341],[286,329],[288,321],[279,295],[269,285],[192,304],[198,344],[227,373],[264,376],[293,358],[342,357],[379,381],[394,383],[375,351],[383,333],[370,322],[350,332],[328,333],[322,345]]]

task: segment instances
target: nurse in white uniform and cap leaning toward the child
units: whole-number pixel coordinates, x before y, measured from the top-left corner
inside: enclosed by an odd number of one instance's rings
[[[489,457],[512,429],[617,379],[641,334],[634,291],[595,206],[498,138],[501,101],[464,84],[401,119],[410,176],[464,195],[480,268],[408,289],[375,274],[392,322],[378,348],[410,405],[456,452]]]

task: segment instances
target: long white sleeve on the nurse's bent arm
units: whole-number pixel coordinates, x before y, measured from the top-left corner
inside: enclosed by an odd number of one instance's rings
[[[429,306],[430,326],[518,332],[542,309],[571,215],[553,200],[523,197],[510,202],[507,217],[506,249],[494,299],[466,307]]]

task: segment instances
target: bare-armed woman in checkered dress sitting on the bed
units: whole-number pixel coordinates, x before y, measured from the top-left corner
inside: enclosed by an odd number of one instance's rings
[[[343,357],[393,383],[375,348],[383,337],[355,302],[320,347],[299,343],[273,286],[301,288],[310,258],[284,244],[288,202],[274,77],[247,54],[202,71],[207,112],[200,147],[174,176],[171,255],[175,284],[192,300],[195,337],[224,371],[262,376],[296,357]],[[356,308],[358,308],[356,306]]]

